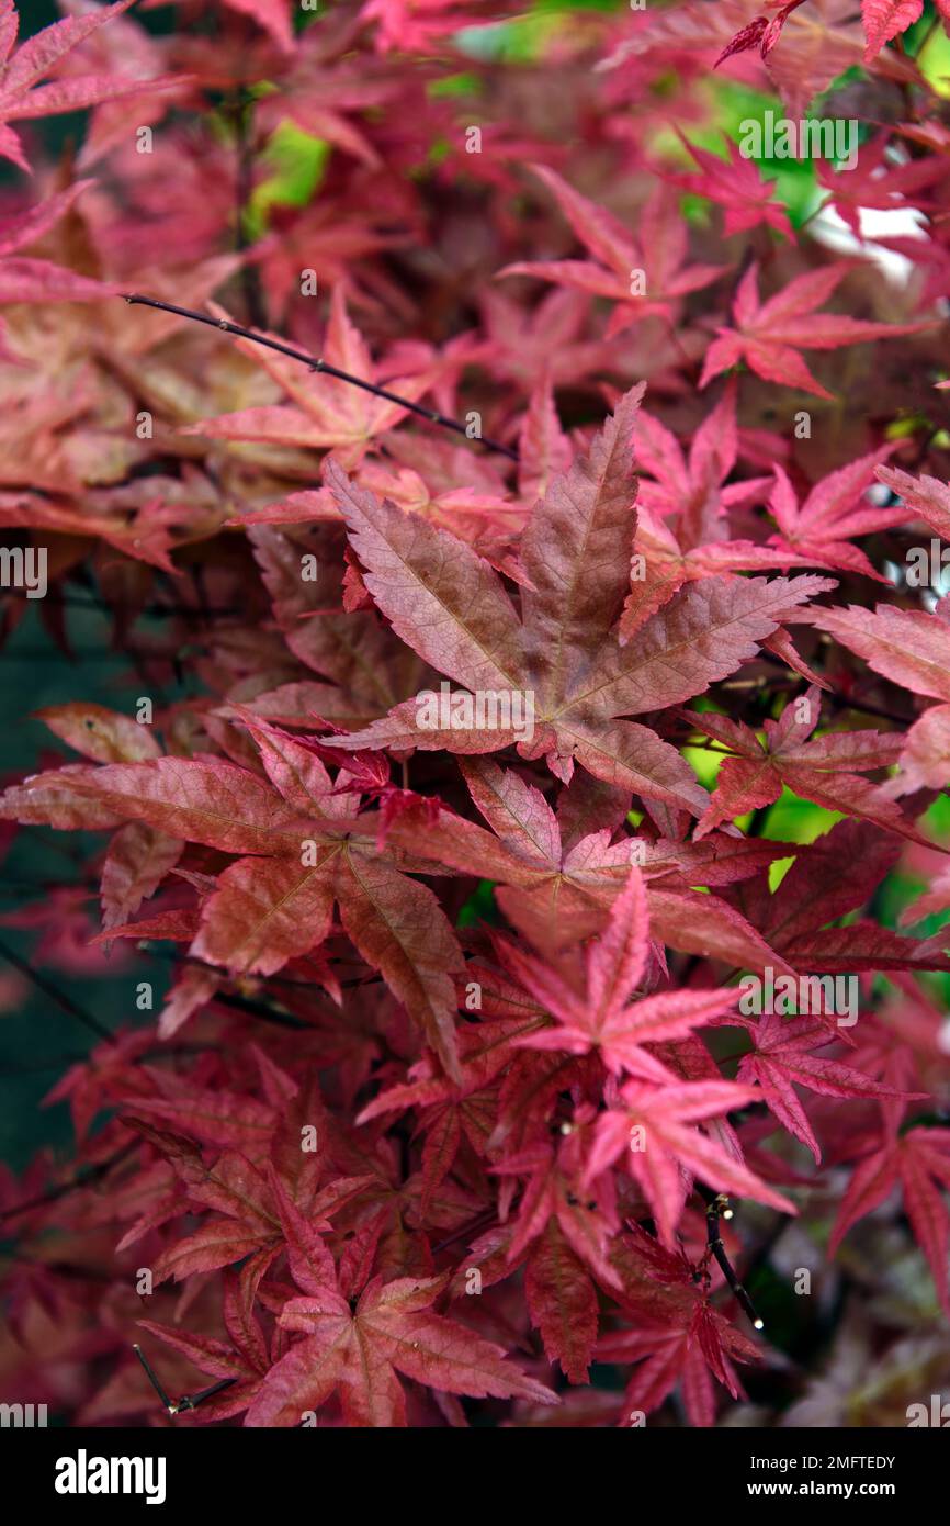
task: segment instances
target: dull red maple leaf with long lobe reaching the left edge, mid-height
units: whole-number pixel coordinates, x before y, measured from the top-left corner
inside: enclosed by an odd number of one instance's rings
[[[273,783],[221,758],[70,765],[14,786],[0,813],[56,827],[137,821],[168,836],[249,855],[218,877],[192,943],[198,958],[238,972],[273,974],[319,946],[339,902],[363,958],[383,974],[456,1074],[451,972],[461,967],[462,952],[435,894],[384,862],[374,818],[360,824],[349,815],[346,797],[332,797],[329,775],[310,749],[264,722],[255,734],[264,740],[262,760]],[[303,862],[305,844],[313,844],[307,855],[313,862]]]

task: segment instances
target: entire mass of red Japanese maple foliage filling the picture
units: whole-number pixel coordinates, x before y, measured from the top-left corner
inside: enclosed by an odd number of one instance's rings
[[[168,1424],[139,1340],[194,1424],[709,1425],[793,1219],[825,1286],[915,1236],[950,1312],[948,938],[878,893],[950,906],[921,0],[540,11],[502,58],[479,0],[130,3],[20,46],[0,5],[0,525],[130,659],[0,813],[104,833],[98,940],[175,974],[50,1094],[75,1161],[2,1183],[5,1383]],[[877,124],[798,229],[692,142],[717,58]],[[52,165],[20,124],[76,107]],[[823,835],[762,833],[790,798]]]

